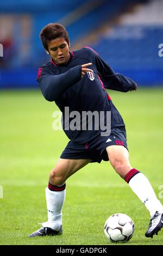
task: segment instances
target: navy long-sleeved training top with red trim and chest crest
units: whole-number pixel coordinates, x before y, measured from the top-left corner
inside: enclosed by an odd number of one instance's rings
[[[90,62],[92,65],[87,68],[93,70],[93,72],[87,72],[82,78],[82,65]],[[55,101],[62,112],[62,127],[67,137],[79,144],[93,141],[105,130],[101,130],[100,124],[99,129],[95,129],[95,119],[92,119],[91,130],[88,129],[88,119],[86,119],[86,129],[81,129],[82,120],[80,129],[70,129],[73,118],[69,117],[67,119],[65,107],[69,107],[70,113],[78,111],[81,117],[82,113],[85,113],[84,111],[97,111],[98,113],[103,111],[105,125],[106,112],[110,111],[111,129],[117,126],[125,126],[120,113],[112,103],[105,88],[119,92],[128,92],[136,88],[136,83],[133,80],[115,73],[90,47],[70,52],[70,60],[67,64],[57,65],[51,60],[51,62],[42,65],[37,75],[37,81],[45,99]],[[68,126],[67,121],[69,122]]]

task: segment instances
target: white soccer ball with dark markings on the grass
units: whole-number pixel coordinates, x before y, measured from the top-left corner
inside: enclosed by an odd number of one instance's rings
[[[134,230],[134,222],[126,214],[113,214],[104,225],[104,233],[111,242],[129,241]]]

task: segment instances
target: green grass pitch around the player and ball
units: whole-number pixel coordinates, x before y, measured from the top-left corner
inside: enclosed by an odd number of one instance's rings
[[[163,197],[163,89],[109,93],[126,123],[131,166],[147,175],[156,195]],[[47,221],[49,171],[68,142],[63,131],[52,129],[57,109],[40,90],[0,92],[0,244],[113,245],[104,235],[104,222],[121,212],[135,223],[127,245],[163,245],[162,232],[145,237],[148,211],[104,161],[90,163],[67,180],[62,236],[28,237]]]

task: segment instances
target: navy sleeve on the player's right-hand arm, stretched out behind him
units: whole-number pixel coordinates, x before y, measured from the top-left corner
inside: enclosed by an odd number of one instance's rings
[[[136,89],[136,83],[128,77],[115,73],[111,67],[97,54],[94,54],[95,62],[99,75],[106,89],[117,90],[119,92],[128,92]]]

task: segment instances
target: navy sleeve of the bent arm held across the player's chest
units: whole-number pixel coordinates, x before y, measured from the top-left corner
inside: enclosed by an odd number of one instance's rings
[[[81,79],[82,66],[76,66],[60,75],[52,75],[44,68],[39,70],[37,81],[43,96],[48,101],[57,101],[69,87]]]

